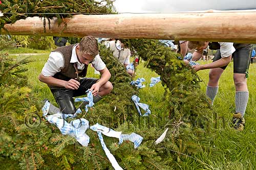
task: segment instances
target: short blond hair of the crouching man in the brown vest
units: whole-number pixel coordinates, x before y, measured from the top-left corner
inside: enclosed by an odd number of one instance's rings
[[[95,57],[99,54],[98,41],[93,36],[86,36],[79,42],[79,51]]]

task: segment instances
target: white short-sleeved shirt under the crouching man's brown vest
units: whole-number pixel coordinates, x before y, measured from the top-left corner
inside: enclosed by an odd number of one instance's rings
[[[83,69],[84,64],[80,63],[77,59],[77,55],[76,55],[77,45],[75,45],[72,49],[70,63],[77,63],[77,68]],[[106,67],[105,63],[101,60],[99,55],[97,55],[93,59],[92,65],[98,71]],[[64,68],[64,58],[62,54],[59,52],[51,52],[49,55],[48,61],[45,63],[45,66],[42,68],[41,74],[45,77],[51,77],[51,76],[54,76],[57,72],[60,72],[62,68]]]

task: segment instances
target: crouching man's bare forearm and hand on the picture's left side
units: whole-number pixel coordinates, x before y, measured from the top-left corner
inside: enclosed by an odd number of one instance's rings
[[[80,83],[74,79],[70,79],[69,81],[65,81],[65,80],[60,80],[60,79],[56,79],[54,77],[46,77],[42,74],[40,74],[38,76],[38,79],[41,82],[44,82],[48,85],[52,85],[52,86],[59,86],[59,87],[65,87],[67,89],[78,89]]]

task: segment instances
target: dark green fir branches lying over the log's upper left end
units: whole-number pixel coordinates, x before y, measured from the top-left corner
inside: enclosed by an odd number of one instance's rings
[[[58,18],[60,24],[65,17],[72,17],[74,13],[112,13],[113,1],[105,0],[101,2],[93,0],[67,0],[67,1],[49,1],[49,0],[2,0],[0,11],[4,13],[0,17],[0,30],[4,28],[6,23],[14,23],[19,19],[38,16],[44,20],[46,28],[46,20],[49,21],[53,17]],[[50,28],[49,28],[50,29]]]

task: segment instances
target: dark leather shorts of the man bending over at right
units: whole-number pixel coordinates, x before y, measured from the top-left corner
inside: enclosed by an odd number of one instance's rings
[[[244,74],[247,69],[249,69],[250,58],[251,58],[251,51],[252,51],[252,44],[238,44],[234,43],[234,47],[236,51],[232,54],[233,58],[233,72],[234,73],[241,73]],[[221,59],[220,50],[217,50],[214,62]],[[226,66],[221,67],[222,69],[226,69]]]

